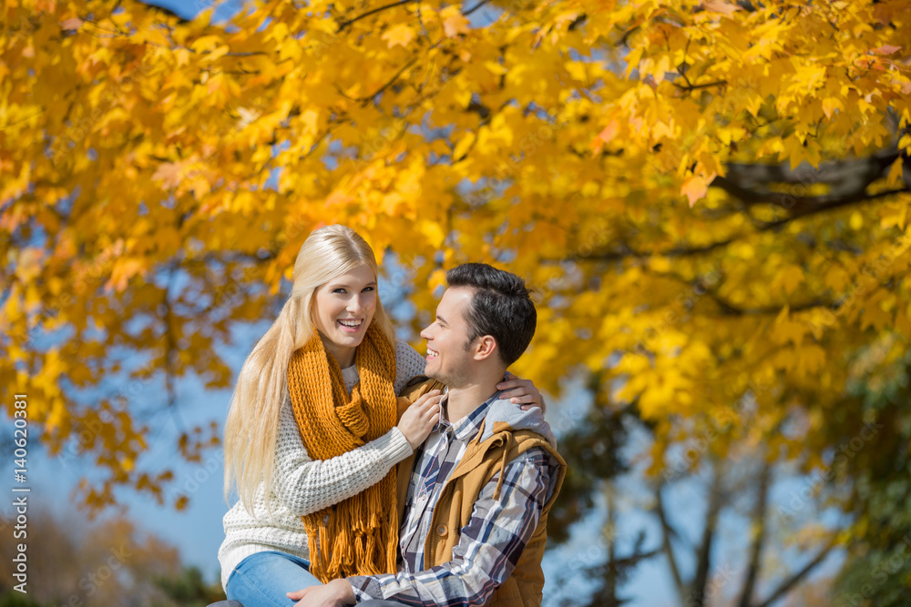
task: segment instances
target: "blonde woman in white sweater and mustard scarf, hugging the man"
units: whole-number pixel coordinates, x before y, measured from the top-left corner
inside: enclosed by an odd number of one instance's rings
[[[287,592],[395,572],[394,465],[439,419],[435,390],[396,421],[396,394],[425,359],[395,341],[370,246],[351,228],[312,232],[292,294],[241,368],[225,424],[221,583],[244,607],[292,605]],[[540,403],[527,380],[500,389]]]

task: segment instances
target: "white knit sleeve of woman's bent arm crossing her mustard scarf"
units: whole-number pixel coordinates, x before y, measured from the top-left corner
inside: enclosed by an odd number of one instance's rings
[[[393,428],[380,438],[331,460],[311,460],[289,398],[281,406],[272,492],[292,514],[311,514],[381,481],[411,452],[404,434]]]

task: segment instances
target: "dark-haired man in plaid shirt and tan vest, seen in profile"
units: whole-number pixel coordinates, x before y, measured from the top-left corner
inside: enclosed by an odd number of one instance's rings
[[[399,572],[289,592],[298,605],[541,602],[548,512],[566,462],[541,410],[496,390],[531,341],[537,312],[521,278],[486,264],[453,268],[446,280],[421,337],[425,372],[448,392],[440,422],[399,468]]]

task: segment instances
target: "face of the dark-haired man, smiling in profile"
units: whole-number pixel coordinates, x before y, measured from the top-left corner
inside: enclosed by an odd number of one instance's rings
[[[471,288],[447,288],[436,307],[436,320],[421,331],[427,340],[425,374],[450,388],[470,383],[474,357],[467,348],[468,323],[465,312],[475,293]]]

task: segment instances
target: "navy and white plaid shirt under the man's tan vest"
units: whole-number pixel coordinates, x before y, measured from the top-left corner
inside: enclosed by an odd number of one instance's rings
[[[499,500],[493,495],[500,472],[481,490],[452,561],[424,570],[424,548],[436,502],[498,396],[497,392],[455,424],[441,419],[418,448],[399,532],[399,572],[348,578],[359,602],[481,605],[512,573],[547,501],[551,470],[547,452],[539,448],[507,463]]]

